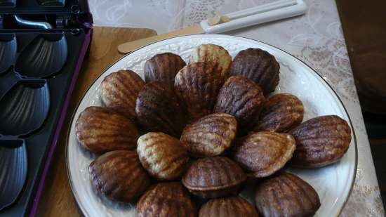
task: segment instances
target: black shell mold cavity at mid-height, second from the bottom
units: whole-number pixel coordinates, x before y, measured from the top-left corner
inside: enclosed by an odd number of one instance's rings
[[[0,134],[26,135],[43,125],[50,107],[46,80],[18,83],[0,100]]]

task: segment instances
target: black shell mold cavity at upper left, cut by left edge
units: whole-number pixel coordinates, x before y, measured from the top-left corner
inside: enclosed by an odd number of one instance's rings
[[[15,34],[0,34],[0,74],[15,63],[17,48]]]

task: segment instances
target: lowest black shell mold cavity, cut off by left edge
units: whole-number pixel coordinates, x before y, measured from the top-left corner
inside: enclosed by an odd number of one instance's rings
[[[24,140],[0,138],[0,211],[15,202],[27,178]]]

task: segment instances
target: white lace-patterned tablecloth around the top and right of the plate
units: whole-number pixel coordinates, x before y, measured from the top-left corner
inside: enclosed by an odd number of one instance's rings
[[[159,34],[274,0],[89,0],[95,26],[147,27]],[[383,217],[377,178],[350,60],[333,0],[305,0],[306,15],[227,34],[277,46],[321,74],[343,100],[357,133],[359,162],[350,199],[340,216]],[[330,216],[328,216],[330,217]]]

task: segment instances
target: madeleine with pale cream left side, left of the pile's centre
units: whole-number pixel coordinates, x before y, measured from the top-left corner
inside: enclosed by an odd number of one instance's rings
[[[189,160],[180,140],[165,133],[146,133],[138,138],[140,162],[159,180],[173,180],[182,175]]]

